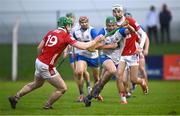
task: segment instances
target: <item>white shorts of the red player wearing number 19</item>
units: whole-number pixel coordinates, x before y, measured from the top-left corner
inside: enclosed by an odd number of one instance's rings
[[[35,68],[35,77],[42,77],[44,79],[48,79],[59,75],[58,71],[56,70],[56,67],[53,67],[50,70],[49,66],[41,62],[39,59],[36,59]]]

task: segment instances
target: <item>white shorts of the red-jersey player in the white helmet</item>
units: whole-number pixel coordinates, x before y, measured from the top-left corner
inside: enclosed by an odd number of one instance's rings
[[[139,55],[129,55],[129,56],[121,56],[120,61],[125,62],[126,66],[136,66],[139,65]]]

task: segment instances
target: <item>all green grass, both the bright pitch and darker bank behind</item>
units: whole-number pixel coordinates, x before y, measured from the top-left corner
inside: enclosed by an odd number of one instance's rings
[[[150,45],[149,55],[180,54],[180,42],[171,44]],[[78,89],[72,80],[72,70],[68,59],[58,68],[68,85],[68,91],[54,104],[54,109],[44,111],[43,104],[53,91],[49,84],[23,97],[16,110],[12,110],[7,97],[14,95],[27,81],[33,80],[34,61],[37,45],[19,45],[18,81],[11,79],[11,45],[0,45],[0,115],[180,115],[180,81],[150,81],[150,94],[143,95],[137,88],[127,105],[119,104],[116,83],[111,81],[102,91],[105,100],[102,103],[93,100],[92,107],[86,108],[76,103]],[[61,60],[62,58],[60,58]],[[60,61],[59,60],[59,61]]]

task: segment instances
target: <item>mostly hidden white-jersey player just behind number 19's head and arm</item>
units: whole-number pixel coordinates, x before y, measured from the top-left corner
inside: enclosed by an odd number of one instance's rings
[[[75,15],[73,13],[67,13],[66,14],[66,17],[70,18],[73,22],[73,27],[72,27],[72,30],[71,30],[71,34],[73,35],[73,33],[75,32],[75,30],[78,30],[80,28],[80,25],[79,23],[75,23]],[[78,77],[76,76],[76,62],[78,61],[78,55],[79,55],[79,49],[78,48],[75,48],[75,47],[72,47],[71,45],[68,45],[68,47],[64,50],[64,58],[66,58],[67,56],[69,56],[69,61],[70,61],[70,65],[72,67],[72,70],[73,70],[73,78],[74,80],[76,81],[77,83],[77,86],[78,86],[78,89],[80,91],[80,96],[78,97],[77,99],[77,102],[80,102],[82,97],[81,97],[81,82],[78,81]],[[87,90],[88,90],[88,93],[90,92],[91,90],[91,87],[90,87],[90,76],[89,76],[89,73],[88,71],[86,71],[84,74],[83,74],[83,77],[86,81],[86,87],[87,87]]]

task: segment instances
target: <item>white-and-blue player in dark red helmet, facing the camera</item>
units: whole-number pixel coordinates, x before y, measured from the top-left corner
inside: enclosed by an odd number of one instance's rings
[[[94,27],[89,25],[89,19],[86,16],[81,16],[79,18],[80,28],[73,33],[74,38],[78,41],[89,42],[92,41],[96,36],[97,32]],[[77,61],[76,73],[78,76],[80,87],[80,99],[83,101],[84,91],[83,91],[83,75],[87,71],[87,67],[91,67],[93,71],[94,83],[99,80],[99,65],[98,65],[98,51],[89,52],[87,50],[80,50]],[[98,100],[102,100],[99,96]]]

